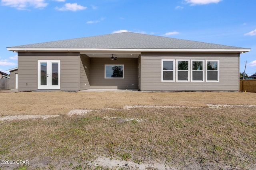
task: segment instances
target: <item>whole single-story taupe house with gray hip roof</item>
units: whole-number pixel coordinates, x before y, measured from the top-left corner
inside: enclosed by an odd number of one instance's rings
[[[238,91],[240,53],[250,51],[132,32],[7,49],[18,52],[19,91]]]

